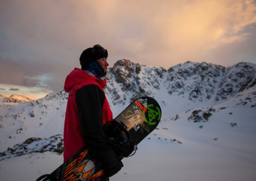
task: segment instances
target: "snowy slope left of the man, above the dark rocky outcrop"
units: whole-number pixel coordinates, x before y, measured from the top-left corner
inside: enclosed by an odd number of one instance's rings
[[[31,137],[63,135],[67,98],[62,89],[36,101],[0,105],[0,152]]]

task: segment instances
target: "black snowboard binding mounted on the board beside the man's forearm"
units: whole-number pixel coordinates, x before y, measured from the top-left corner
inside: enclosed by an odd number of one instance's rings
[[[137,139],[131,139],[127,126],[123,122],[119,123],[113,119],[104,124],[103,130],[105,139],[111,143],[118,157],[130,157],[135,154],[138,149]]]

